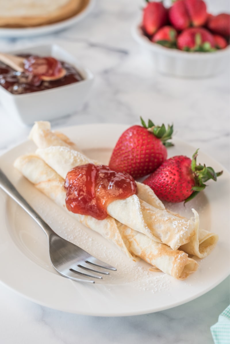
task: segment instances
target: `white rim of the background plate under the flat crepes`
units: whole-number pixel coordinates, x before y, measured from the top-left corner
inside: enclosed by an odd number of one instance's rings
[[[41,25],[31,28],[0,28],[0,37],[32,37],[48,35],[50,33],[67,29],[86,17],[92,10],[95,0],[89,0],[89,4],[83,11],[73,17],[49,25]]]

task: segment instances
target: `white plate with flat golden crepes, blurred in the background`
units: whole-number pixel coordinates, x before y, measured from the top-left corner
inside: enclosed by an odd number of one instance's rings
[[[95,1],[0,0],[0,37],[31,37],[67,29],[85,18]]]

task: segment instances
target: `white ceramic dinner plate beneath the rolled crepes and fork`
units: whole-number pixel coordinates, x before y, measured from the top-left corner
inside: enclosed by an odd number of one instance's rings
[[[109,160],[112,147],[124,125],[83,125],[65,128],[66,133],[91,158],[102,163]],[[169,155],[192,156],[194,147],[173,140]],[[163,272],[149,272],[149,265],[129,261],[116,247],[99,234],[76,223],[64,209],[52,203],[12,167],[21,154],[34,152],[32,142],[24,142],[0,157],[0,166],[19,192],[64,238],[88,250],[99,259],[117,267],[103,282],[93,285],[63,278],[52,268],[47,238],[40,227],[6,194],[0,192],[0,280],[25,298],[61,311],[96,315],[123,316],[168,309],[199,297],[229,275],[229,173],[200,193],[184,207],[172,209],[187,217],[191,208],[200,213],[201,227],[219,234],[217,247],[199,260],[199,270],[184,281]],[[199,152],[199,162],[216,171],[222,166]],[[189,310],[188,310],[189,311]]]

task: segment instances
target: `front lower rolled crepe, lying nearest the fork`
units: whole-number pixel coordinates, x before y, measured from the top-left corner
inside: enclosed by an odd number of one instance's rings
[[[150,239],[110,216],[104,220],[97,220],[91,216],[70,213],[65,205],[64,179],[36,155],[19,157],[14,162],[14,166],[41,192],[64,207],[68,214],[109,239],[127,256],[131,257],[130,253],[138,256],[177,279],[187,278],[191,272],[197,270],[198,263],[189,258],[188,254],[180,250],[172,250],[169,246]]]

